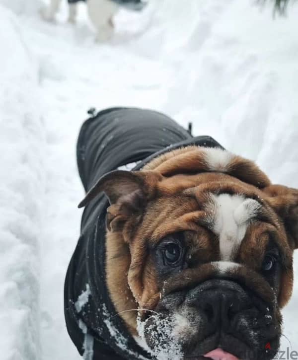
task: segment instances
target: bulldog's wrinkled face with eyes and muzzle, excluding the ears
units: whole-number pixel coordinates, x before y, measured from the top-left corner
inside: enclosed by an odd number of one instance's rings
[[[272,359],[292,281],[281,283],[292,263],[285,232],[257,200],[202,195],[153,201],[131,240],[138,261],[129,284],[140,308],[155,311],[140,312],[140,335],[169,359],[218,348],[239,359]]]

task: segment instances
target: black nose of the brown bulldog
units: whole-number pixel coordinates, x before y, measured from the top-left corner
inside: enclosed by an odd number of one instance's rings
[[[250,298],[233,281],[210,280],[189,291],[186,303],[200,310],[209,329],[227,330],[235,315],[249,308]]]

